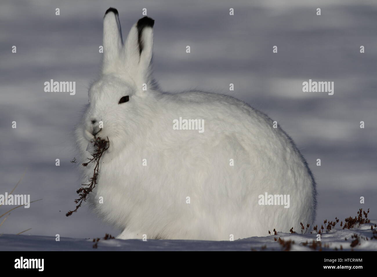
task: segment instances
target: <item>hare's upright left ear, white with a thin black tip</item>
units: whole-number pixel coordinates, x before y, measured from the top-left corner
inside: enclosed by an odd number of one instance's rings
[[[109,8],[103,18],[103,72],[108,71],[120,59],[122,49],[123,40],[118,11]]]

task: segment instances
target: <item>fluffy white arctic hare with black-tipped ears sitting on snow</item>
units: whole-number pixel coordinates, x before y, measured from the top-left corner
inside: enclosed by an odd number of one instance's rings
[[[93,210],[120,239],[230,240],[312,224],[310,169],[268,116],[227,95],[158,90],[153,24],[141,18],[123,43],[118,11],[104,16],[102,75],[75,130],[81,162],[94,138],[110,141]],[[89,164],[83,184],[90,176]]]

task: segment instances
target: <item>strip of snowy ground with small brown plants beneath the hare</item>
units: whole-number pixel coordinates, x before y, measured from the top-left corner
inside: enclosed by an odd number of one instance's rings
[[[377,251],[377,234],[373,234],[371,226],[377,220],[371,220],[357,228],[342,230],[336,228],[324,233],[321,242],[316,242],[315,250],[322,251]],[[374,227],[373,227],[374,228]],[[377,229],[376,229],[377,230]],[[355,234],[358,243],[355,242]],[[276,238],[276,241],[275,241]],[[282,242],[279,242],[279,238]],[[289,243],[293,240],[294,243]],[[273,236],[250,237],[233,242],[205,241],[205,240],[118,240],[101,239],[97,248],[93,248],[93,238],[72,239],[61,237],[57,242],[55,237],[48,236],[22,236],[4,234],[0,236],[0,251],[313,251],[313,240],[316,234],[287,234],[278,232]],[[288,242],[288,243],[287,243]],[[306,242],[308,242],[307,245]],[[353,243],[352,243],[353,242]],[[351,247],[352,245],[355,245]]]

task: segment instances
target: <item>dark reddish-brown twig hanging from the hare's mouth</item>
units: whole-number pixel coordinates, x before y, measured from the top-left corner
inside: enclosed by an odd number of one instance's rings
[[[75,199],[75,203],[78,205],[76,206],[75,210],[69,211],[66,213],[66,216],[70,216],[72,213],[77,212],[78,208],[81,207],[81,204],[83,201],[86,201],[87,195],[93,191],[93,188],[95,188],[95,185],[97,184],[97,179],[98,179],[98,172],[100,171],[100,159],[103,155],[103,153],[109,149],[110,147],[110,142],[109,138],[106,139],[101,139],[98,137],[96,141],[94,142],[94,146],[97,146],[97,149],[95,149],[95,153],[92,154],[92,158],[88,158],[89,162],[84,162],[83,166],[86,167],[90,162],[95,163],[95,167],[93,170],[93,177],[90,178],[90,184],[81,184],[83,186],[89,186],[89,187],[81,187],[79,188],[76,193],[80,196],[78,199]]]

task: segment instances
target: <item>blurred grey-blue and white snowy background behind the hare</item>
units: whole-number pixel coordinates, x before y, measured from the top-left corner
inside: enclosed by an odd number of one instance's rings
[[[110,6],[119,11],[123,38],[143,8],[155,19],[154,76],[162,90],[227,93],[280,124],[316,178],[317,224],[355,216],[359,208],[371,208],[369,217],[377,218],[376,1],[2,0],[0,194],[10,193],[26,170],[14,194],[43,200],[12,211],[0,234],[32,228],[24,234],[118,235],[87,207],[65,216],[81,184],[78,165],[70,162],[72,131],[100,73],[102,20]],[[75,81],[76,94],[44,92],[50,79]],[[302,92],[309,79],[334,81],[334,95]]]

